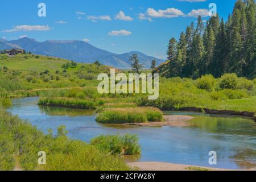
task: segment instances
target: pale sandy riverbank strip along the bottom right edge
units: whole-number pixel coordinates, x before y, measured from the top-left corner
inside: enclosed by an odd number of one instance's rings
[[[137,162],[127,163],[128,166],[139,169],[139,171],[244,171],[234,169],[209,168],[200,166],[190,166],[183,164],[160,163],[160,162]],[[256,168],[246,171],[256,171]]]

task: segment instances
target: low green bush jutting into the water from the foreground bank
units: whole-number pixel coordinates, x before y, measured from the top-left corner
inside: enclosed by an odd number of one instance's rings
[[[141,153],[137,135],[101,135],[91,140],[99,150],[115,155],[134,155]]]

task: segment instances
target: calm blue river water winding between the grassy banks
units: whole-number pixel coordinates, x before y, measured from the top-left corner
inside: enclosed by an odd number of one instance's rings
[[[137,134],[141,155],[126,157],[129,162],[168,162],[229,169],[256,167],[256,123],[249,118],[168,111],[192,115],[191,127],[138,127],[101,125],[93,110],[38,106],[38,97],[13,100],[9,111],[27,119],[38,129],[56,131],[65,125],[69,137],[90,142],[102,134]],[[217,165],[208,163],[209,151],[217,152]]]

